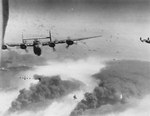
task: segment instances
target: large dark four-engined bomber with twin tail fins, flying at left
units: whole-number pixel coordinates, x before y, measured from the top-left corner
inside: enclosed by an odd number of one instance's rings
[[[91,38],[97,38],[97,37],[101,37],[101,36],[92,36],[92,37],[85,37],[85,38],[76,38],[76,39],[65,39],[65,40],[54,40],[52,41],[52,37],[51,37],[51,32],[49,32],[49,36],[48,37],[43,37],[43,38],[28,38],[28,39],[23,39],[22,36],[22,43],[18,43],[18,44],[3,44],[2,45],[2,49],[8,49],[9,47],[15,47],[15,46],[19,46],[20,49],[24,49],[25,51],[27,51],[27,47],[33,47],[33,52],[34,54],[36,54],[37,56],[40,56],[42,53],[42,46],[49,46],[53,48],[53,51],[55,51],[55,45],[56,44],[63,44],[66,43],[67,46],[66,48],[68,48],[70,45],[75,44],[75,42],[77,41],[81,41],[81,40],[85,40],[85,39],[91,39]],[[40,42],[40,39],[49,39],[49,41],[47,42]],[[33,43],[27,43],[28,40],[33,40]]]

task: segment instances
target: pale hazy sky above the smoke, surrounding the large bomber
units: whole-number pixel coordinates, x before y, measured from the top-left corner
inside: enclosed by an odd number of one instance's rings
[[[48,30],[56,39],[101,34],[87,40],[97,50],[92,54],[148,60],[149,45],[139,37],[149,37],[149,5],[149,0],[11,0],[5,41],[21,42],[22,32],[25,38],[47,36]],[[84,47],[70,51],[91,54]],[[59,46],[57,52],[66,54]]]

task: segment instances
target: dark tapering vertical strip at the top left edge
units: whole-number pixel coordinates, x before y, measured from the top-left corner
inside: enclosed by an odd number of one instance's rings
[[[3,32],[2,32],[2,42],[4,42],[5,30],[9,18],[9,1],[2,0],[2,16],[3,16]]]

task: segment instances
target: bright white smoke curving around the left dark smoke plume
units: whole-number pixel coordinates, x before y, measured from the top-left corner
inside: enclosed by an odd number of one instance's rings
[[[84,93],[91,92],[95,88],[95,86],[97,86],[98,81],[92,78],[92,75],[99,72],[104,66],[104,60],[93,57],[77,61],[49,61],[47,65],[35,66],[33,70],[26,71],[24,75],[26,77],[33,77],[33,75],[35,74],[44,76],[60,75],[61,79],[63,80],[75,79],[84,83],[85,86],[79,91],[70,93],[69,95],[61,99],[54,100],[52,104],[45,110],[38,112],[15,112],[9,114],[9,116],[68,116],[71,113],[71,111],[75,108],[77,103],[81,99],[83,99]],[[31,83],[35,83],[35,80],[29,80],[26,84],[23,84],[22,86],[28,88]],[[77,97],[76,100],[74,100],[73,98],[74,95],[76,95]],[[9,97],[11,98],[11,96],[8,95],[8,98]],[[10,103],[13,100],[14,99],[11,98],[10,102],[4,101],[8,104],[7,108],[9,108],[9,106],[11,105]]]

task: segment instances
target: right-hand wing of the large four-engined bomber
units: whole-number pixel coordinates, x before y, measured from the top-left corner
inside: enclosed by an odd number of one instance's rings
[[[102,37],[102,36],[98,35],[98,36],[91,36],[91,37],[75,38],[75,39],[70,39],[70,40],[72,40],[72,41],[81,41],[81,40],[92,39],[92,38],[97,38],[97,37]],[[56,44],[66,43],[66,40],[68,40],[68,39],[58,40],[55,43]]]

